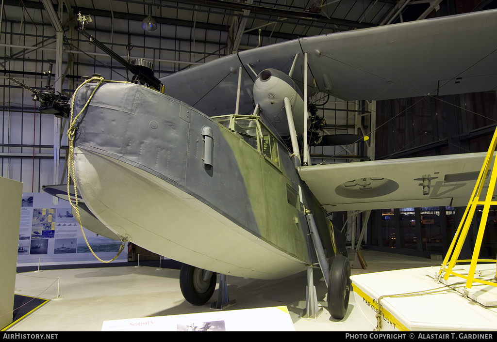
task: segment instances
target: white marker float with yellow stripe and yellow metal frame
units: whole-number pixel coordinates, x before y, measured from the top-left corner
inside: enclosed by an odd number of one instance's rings
[[[493,170],[496,148],[497,130],[439,269],[419,268],[350,277],[356,302],[375,330],[497,331],[497,260],[480,259],[490,207],[497,205],[497,201],[493,201],[497,183],[497,171]],[[478,217],[475,215],[477,210],[480,210],[481,218],[472,258],[458,259],[471,222]],[[462,334],[458,338],[488,336]]]

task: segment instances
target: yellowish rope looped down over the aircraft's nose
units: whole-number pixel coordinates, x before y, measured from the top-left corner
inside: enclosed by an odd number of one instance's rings
[[[91,93],[90,97],[88,98],[88,100],[84,104],[84,106],[81,109],[81,111],[78,113],[78,115],[76,117],[74,117],[74,103],[75,103],[77,92],[80,90],[80,88],[84,84],[86,84],[88,82],[97,81],[97,80],[98,80],[98,84],[96,85],[95,89],[93,89],[93,92]],[[91,249],[88,241],[86,240],[86,236],[85,236],[84,231],[83,231],[83,224],[81,223],[80,210],[78,208],[78,190],[76,188],[76,183],[74,184],[75,203],[73,203],[73,200],[71,199],[71,190],[70,190],[71,189],[71,185],[70,185],[71,184],[71,175],[73,176],[73,180],[76,182],[76,171],[75,171],[75,166],[74,166],[74,139],[75,139],[75,135],[76,135],[76,130],[78,129],[77,127],[75,127],[76,126],[76,122],[77,122],[78,118],[80,117],[80,115],[83,113],[83,111],[86,109],[86,107],[88,106],[88,104],[90,103],[91,98],[95,94],[95,92],[98,89],[98,87],[103,82],[129,83],[129,82],[105,80],[103,77],[93,76],[90,79],[85,80],[78,88],[76,88],[76,90],[74,92],[74,95],[73,95],[73,101],[71,103],[70,126],[69,126],[68,131],[67,131],[67,136],[69,138],[69,158],[68,158],[68,168],[69,168],[69,170],[68,170],[68,173],[67,173],[67,196],[69,198],[69,203],[71,203],[71,206],[76,211],[76,218],[78,219],[78,223],[80,224],[80,227],[81,227],[81,232],[83,233],[84,241],[86,242],[86,245],[88,246],[89,250],[91,251],[91,253],[93,254],[93,256],[96,259],[98,259],[102,263],[108,264],[108,263],[116,260],[117,257],[119,256],[119,254],[121,254],[121,252],[124,250],[124,246],[125,246],[124,245],[124,241],[121,240],[121,246],[119,247],[119,252],[117,253],[117,255],[114,258],[112,258],[112,260],[104,261],[104,260],[98,258],[97,255],[95,254],[95,252],[93,252],[93,250]],[[74,117],[74,119],[73,119],[73,117]]]

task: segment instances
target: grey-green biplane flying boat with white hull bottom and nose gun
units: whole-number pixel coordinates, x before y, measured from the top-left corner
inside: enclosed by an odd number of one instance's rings
[[[95,232],[182,262],[180,288],[194,305],[210,300],[216,273],[276,279],[319,266],[330,314],[341,319],[350,263],[327,213],[465,205],[483,163],[473,153],[311,165],[308,98],[495,89],[495,10],[302,38],[161,79],[150,63],[130,63],[80,32],[135,74],[131,82],[95,75],[56,110],[71,120],[83,226],[93,217]]]

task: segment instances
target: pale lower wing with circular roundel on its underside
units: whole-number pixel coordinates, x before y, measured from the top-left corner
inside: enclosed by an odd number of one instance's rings
[[[328,211],[466,206],[485,155],[312,165],[299,167],[298,171]]]

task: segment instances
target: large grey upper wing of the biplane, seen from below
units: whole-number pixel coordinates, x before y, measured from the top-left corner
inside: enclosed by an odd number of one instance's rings
[[[233,114],[243,67],[240,114],[253,110],[256,72],[277,68],[303,84],[308,53],[310,94],[384,100],[493,90],[497,86],[497,10],[338,32],[268,45],[161,78],[166,93],[209,116]]]

